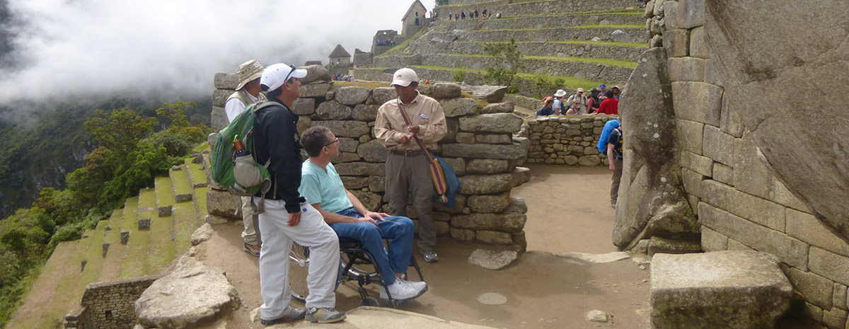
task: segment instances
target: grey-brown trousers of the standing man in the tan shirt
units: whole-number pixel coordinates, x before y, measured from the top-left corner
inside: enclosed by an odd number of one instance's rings
[[[413,208],[419,215],[419,249],[436,247],[433,226],[433,181],[430,179],[427,157],[389,154],[386,159],[386,196],[393,216],[407,216],[408,192],[413,193]]]

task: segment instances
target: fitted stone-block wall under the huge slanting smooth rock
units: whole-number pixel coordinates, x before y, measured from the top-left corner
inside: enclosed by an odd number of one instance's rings
[[[701,246],[705,251],[754,249],[778,256],[804,299],[804,315],[829,328],[849,328],[849,244],[779,181],[763,144],[756,144],[756,128],[750,130],[741,119],[757,114],[743,114],[745,106],[728,99],[734,90],[728,81],[734,79],[720,76],[726,68],[715,53],[722,49],[711,49],[706,32],[706,27],[717,28],[706,4],[723,6],[719,3],[654,0],[645,14],[650,47],[664,47],[668,56],[680,177],[699,217]],[[833,174],[841,175],[819,173]]]

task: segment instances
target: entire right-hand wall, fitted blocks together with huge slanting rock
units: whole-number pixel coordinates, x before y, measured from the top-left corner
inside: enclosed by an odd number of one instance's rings
[[[796,17],[796,5],[655,0],[645,17],[651,45],[668,55],[680,177],[702,225],[702,248],[778,256],[804,299],[804,314],[843,329],[849,327],[847,176],[831,159],[843,157],[835,152],[846,139],[826,127],[849,118],[845,95],[822,86],[843,86],[849,72],[846,47],[829,42],[845,39],[847,19]],[[804,11],[841,2],[816,6]],[[797,23],[806,25],[783,27]],[[815,99],[841,100],[800,115]]]

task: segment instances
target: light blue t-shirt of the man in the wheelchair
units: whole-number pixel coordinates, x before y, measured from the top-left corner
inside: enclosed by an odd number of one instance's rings
[[[326,170],[321,169],[310,160],[301,165],[301,187],[298,187],[306,202],[321,204],[321,209],[331,213],[353,207],[345,192],[345,184],[336,173],[333,164],[327,164]]]

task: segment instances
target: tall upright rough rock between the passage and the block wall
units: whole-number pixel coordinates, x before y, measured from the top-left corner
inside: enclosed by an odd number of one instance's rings
[[[675,118],[666,52],[640,56],[620,108],[625,159],[616,205],[613,244],[633,248],[652,236],[694,239],[698,225],[678,182]],[[645,125],[645,122],[654,125]]]

